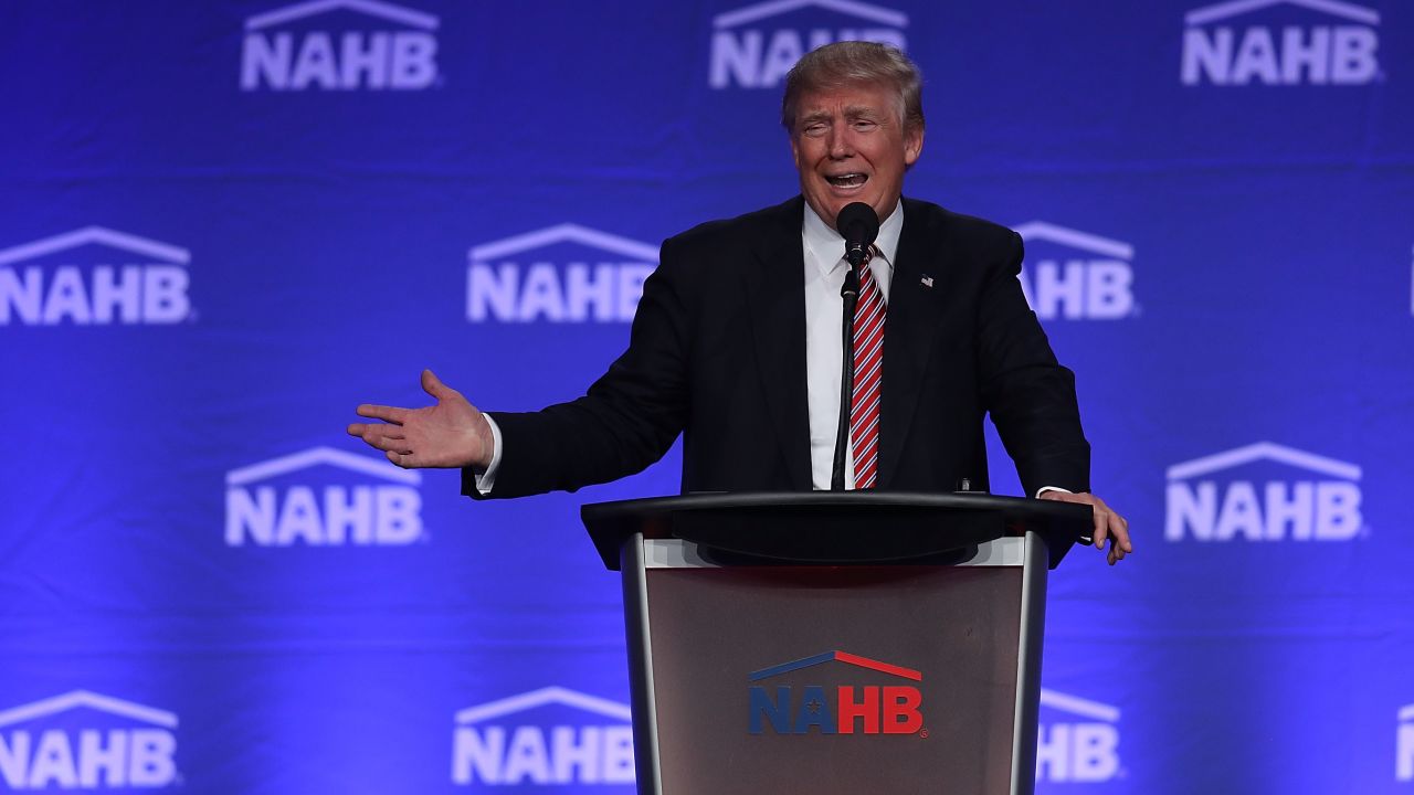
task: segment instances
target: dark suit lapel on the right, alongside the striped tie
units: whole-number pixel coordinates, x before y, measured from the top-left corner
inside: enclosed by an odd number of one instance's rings
[[[930,243],[937,231],[929,228],[928,221],[904,199],[904,232],[894,256],[894,280],[889,284],[888,318],[884,325],[878,488],[888,488],[894,480],[904,440],[908,439],[913,412],[918,410],[919,388],[936,337],[935,290],[925,286],[923,277],[936,279],[940,290],[945,274],[929,265]]]

